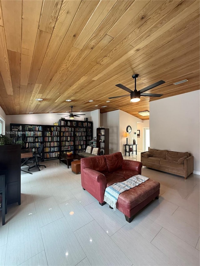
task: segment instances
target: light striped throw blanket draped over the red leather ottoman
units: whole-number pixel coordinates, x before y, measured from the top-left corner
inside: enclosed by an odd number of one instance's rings
[[[130,177],[126,181],[118,182],[113,184],[112,186],[108,186],[104,193],[104,201],[107,202],[114,210],[116,210],[116,204],[118,201],[118,196],[122,192],[129,190],[139,184],[147,181],[149,178],[144,177],[142,175],[136,175]]]

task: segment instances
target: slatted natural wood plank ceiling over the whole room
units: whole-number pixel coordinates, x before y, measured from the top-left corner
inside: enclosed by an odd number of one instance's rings
[[[2,0],[0,106],[6,114],[121,109],[148,119],[138,112],[150,100],[199,89],[199,3]],[[115,84],[134,90],[136,73],[138,90],[165,80],[147,92],[164,95],[106,103],[127,94]]]

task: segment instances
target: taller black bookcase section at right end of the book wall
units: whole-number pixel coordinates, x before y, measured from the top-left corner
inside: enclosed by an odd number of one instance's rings
[[[93,122],[60,119],[61,152],[70,150],[74,154],[84,152],[93,135]]]

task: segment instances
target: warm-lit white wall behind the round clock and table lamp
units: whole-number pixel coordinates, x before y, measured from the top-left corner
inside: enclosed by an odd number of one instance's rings
[[[119,110],[119,151],[122,152],[122,154],[125,154],[125,146],[123,146],[123,144],[126,144],[126,138],[124,137],[124,135],[126,133],[127,126],[131,126],[132,128],[132,131],[129,134],[130,137],[128,138],[128,144],[132,144],[133,139],[135,139],[137,144],[137,122],[142,122],[142,120],[131,114]]]

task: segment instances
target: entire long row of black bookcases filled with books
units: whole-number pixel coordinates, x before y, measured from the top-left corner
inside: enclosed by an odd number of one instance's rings
[[[93,122],[60,119],[58,126],[10,124],[12,142],[22,140],[25,148],[37,152],[44,143],[44,158],[57,158],[67,150],[74,154],[85,151],[93,137]]]

